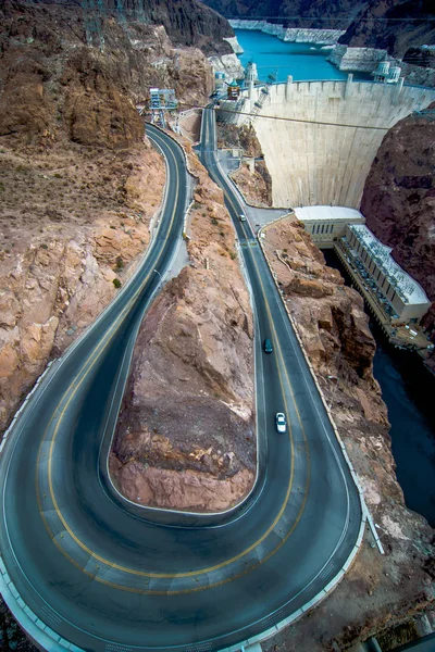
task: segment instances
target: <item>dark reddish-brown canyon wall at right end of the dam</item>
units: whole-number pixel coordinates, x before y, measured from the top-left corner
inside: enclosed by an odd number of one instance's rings
[[[428,111],[435,112],[435,103]],[[435,113],[411,115],[385,136],[365,181],[368,226],[435,302]],[[435,304],[426,318],[435,327]]]

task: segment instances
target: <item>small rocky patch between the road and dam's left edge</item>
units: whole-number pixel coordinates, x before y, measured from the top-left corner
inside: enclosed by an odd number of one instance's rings
[[[217,147],[237,148],[244,151],[244,156],[257,159],[251,165],[241,162],[240,167],[232,174],[233,179],[241,190],[247,202],[256,206],[272,205],[272,178],[262,159],[260,142],[253,127],[227,125],[217,123]]]

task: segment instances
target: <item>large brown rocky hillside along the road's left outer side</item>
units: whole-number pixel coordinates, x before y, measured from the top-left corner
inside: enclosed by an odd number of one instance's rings
[[[149,241],[164,164],[134,100],[149,86],[204,102],[202,52],[162,26],[101,25],[76,7],[0,9],[0,428],[44,369],[113,298]]]

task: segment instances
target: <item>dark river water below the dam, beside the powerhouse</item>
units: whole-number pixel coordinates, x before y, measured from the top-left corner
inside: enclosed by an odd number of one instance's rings
[[[350,285],[334,251],[323,254]],[[376,340],[373,375],[388,409],[397,479],[407,506],[435,527],[435,376],[417,353],[391,347],[377,324],[370,328]]]

